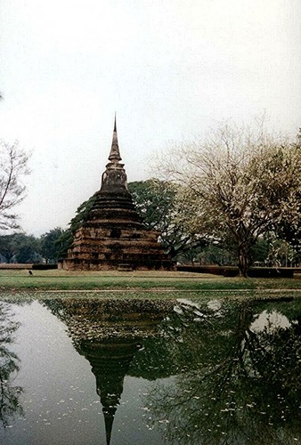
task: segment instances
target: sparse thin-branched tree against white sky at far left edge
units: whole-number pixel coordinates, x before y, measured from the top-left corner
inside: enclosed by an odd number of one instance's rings
[[[19,142],[12,145],[0,141],[0,229],[17,228],[14,206],[25,198],[22,177],[28,174],[28,155],[20,149]]]

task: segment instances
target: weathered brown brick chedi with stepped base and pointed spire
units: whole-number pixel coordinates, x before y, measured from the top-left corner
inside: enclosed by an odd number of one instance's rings
[[[170,258],[158,242],[159,232],[143,225],[127,190],[116,119],[109,161],[94,205],[59,267],[69,271],[171,269]]]

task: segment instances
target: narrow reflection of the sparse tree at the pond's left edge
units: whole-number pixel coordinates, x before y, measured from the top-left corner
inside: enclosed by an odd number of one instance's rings
[[[0,422],[9,425],[12,417],[22,415],[19,403],[20,386],[12,386],[13,377],[19,370],[17,355],[8,348],[19,324],[11,320],[9,304],[0,302]]]

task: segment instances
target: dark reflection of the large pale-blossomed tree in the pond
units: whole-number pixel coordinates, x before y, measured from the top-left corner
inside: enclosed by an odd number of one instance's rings
[[[168,441],[301,440],[299,324],[282,328],[267,317],[256,327],[260,311],[260,304],[182,303],[165,321],[161,354],[172,356],[175,384],[158,384],[146,404]]]

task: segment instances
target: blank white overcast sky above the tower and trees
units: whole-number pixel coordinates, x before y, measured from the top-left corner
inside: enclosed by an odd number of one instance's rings
[[[0,138],[32,150],[28,233],[100,188],[115,110],[129,182],[224,118],[301,126],[300,0],[1,0],[0,20]]]

